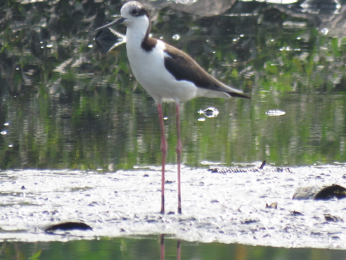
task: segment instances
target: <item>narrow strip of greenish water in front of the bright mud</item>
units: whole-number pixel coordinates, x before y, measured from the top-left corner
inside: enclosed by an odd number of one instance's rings
[[[179,258],[175,239],[166,239],[166,260]],[[97,240],[76,240],[62,242],[2,242],[1,259],[158,259],[160,242],[157,236],[101,238]],[[179,246],[179,241],[178,241]],[[184,255],[181,259],[213,260],[335,260],[344,259],[344,250],[315,248],[274,248],[243,244],[196,243],[184,241]],[[19,256],[19,257],[18,257]],[[162,257],[162,255],[161,255]],[[162,259],[162,258],[161,258]]]

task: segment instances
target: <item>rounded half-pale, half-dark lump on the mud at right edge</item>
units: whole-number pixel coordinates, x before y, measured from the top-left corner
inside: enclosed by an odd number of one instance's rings
[[[301,187],[293,194],[292,199],[306,200],[329,200],[332,198],[343,199],[346,198],[346,188],[333,184],[322,187]]]

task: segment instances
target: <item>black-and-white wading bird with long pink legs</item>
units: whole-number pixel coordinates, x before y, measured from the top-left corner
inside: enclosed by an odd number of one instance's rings
[[[126,51],[133,75],[157,104],[161,132],[161,210],[164,214],[165,162],[167,153],[164,132],[162,103],[174,102],[176,113],[176,157],[178,214],[181,210],[180,165],[182,143],[180,139],[179,104],[195,97],[242,97],[251,99],[241,90],[230,87],[212,77],[188,54],[161,40],[152,38],[151,18],[148,10],[137,1],[125,3],[120,9],[120,17],[95,31],[116,24],[126,26]]]

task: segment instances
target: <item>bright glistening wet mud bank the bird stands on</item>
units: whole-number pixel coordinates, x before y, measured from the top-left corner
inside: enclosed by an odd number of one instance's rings
[[[68,239],[74,235],[92,239],[164,233],[206,243],[346,249],[342,200],[292,200],[300,187],[342,183],[344,167],[321,165],[293,167],[292,173],[233,174],[184,167],[182,215],[158,213],[158,168],[109,173],[2,171],[0,239],[66,241],[66,236],[45,234],[42,228],[77,220],[92,226],[93,231],[73,231]],[[166,180],[166,212],[175,212],[174,166],[167,167]],[[277,209],[265,208],[272,202],[277,202]],[[339,220],[327,222],[327,214]]]

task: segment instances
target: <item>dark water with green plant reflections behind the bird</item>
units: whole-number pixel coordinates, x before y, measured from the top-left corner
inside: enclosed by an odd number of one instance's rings
[[[120,6],[92,0],[1,2],[0,132],[6,132],[0,135],[1,169],[160,165],[156,106],[131,75],[125,45],[102,55],[93,40],[93,28]],[[182,104],[184,164],[346,161],[346,38],[322,34],[307,19],[274,7],[281,26],[260,21],[267,10],[246,18],[158,11],[155,37],[252,97]],[[177,33],[179,41],[172,38]],[[203,116],[197,112],[209,106],[220,114],[199,121]],[[264,114],[273,109],[286,114]],[[167,163],[175,163],[171,104],[164,105],[164,114]]]

